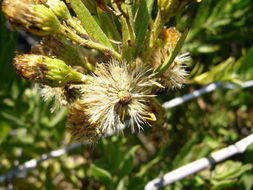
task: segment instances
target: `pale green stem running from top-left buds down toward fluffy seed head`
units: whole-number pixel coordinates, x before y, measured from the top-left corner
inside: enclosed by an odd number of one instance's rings
[[[70,28],[61,25],[61,34],[68,37],[69,39],[73,40],[74,42],[78,43],[81,46],[97,49],[101,52],[103,52],[105,55],[111,55],[114,58],[121,60],[121,55],[116,52],[115,50],[112,50],[108,48],[107,46],[104,46],[102,44],[99,44],[97,42],[93,42],[90,40],[86,40],[84,38],[81,38],[79,35],[77,35],[74,31],[72,31]]]

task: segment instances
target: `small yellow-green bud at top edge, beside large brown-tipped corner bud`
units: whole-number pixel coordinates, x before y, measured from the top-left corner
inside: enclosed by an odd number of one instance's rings
[[[63,1],[44,0],[43,2],[45,2],[44,4],[47,5],[60,20],[71,18],[68,7]]]

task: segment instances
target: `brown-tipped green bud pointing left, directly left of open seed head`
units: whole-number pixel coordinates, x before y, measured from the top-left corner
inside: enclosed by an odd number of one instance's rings
[[[24,54],[15,58],[17,74],[21,77],[49,86],[64,86],[70,82],[83,82],[87,78],[60,59]]]

